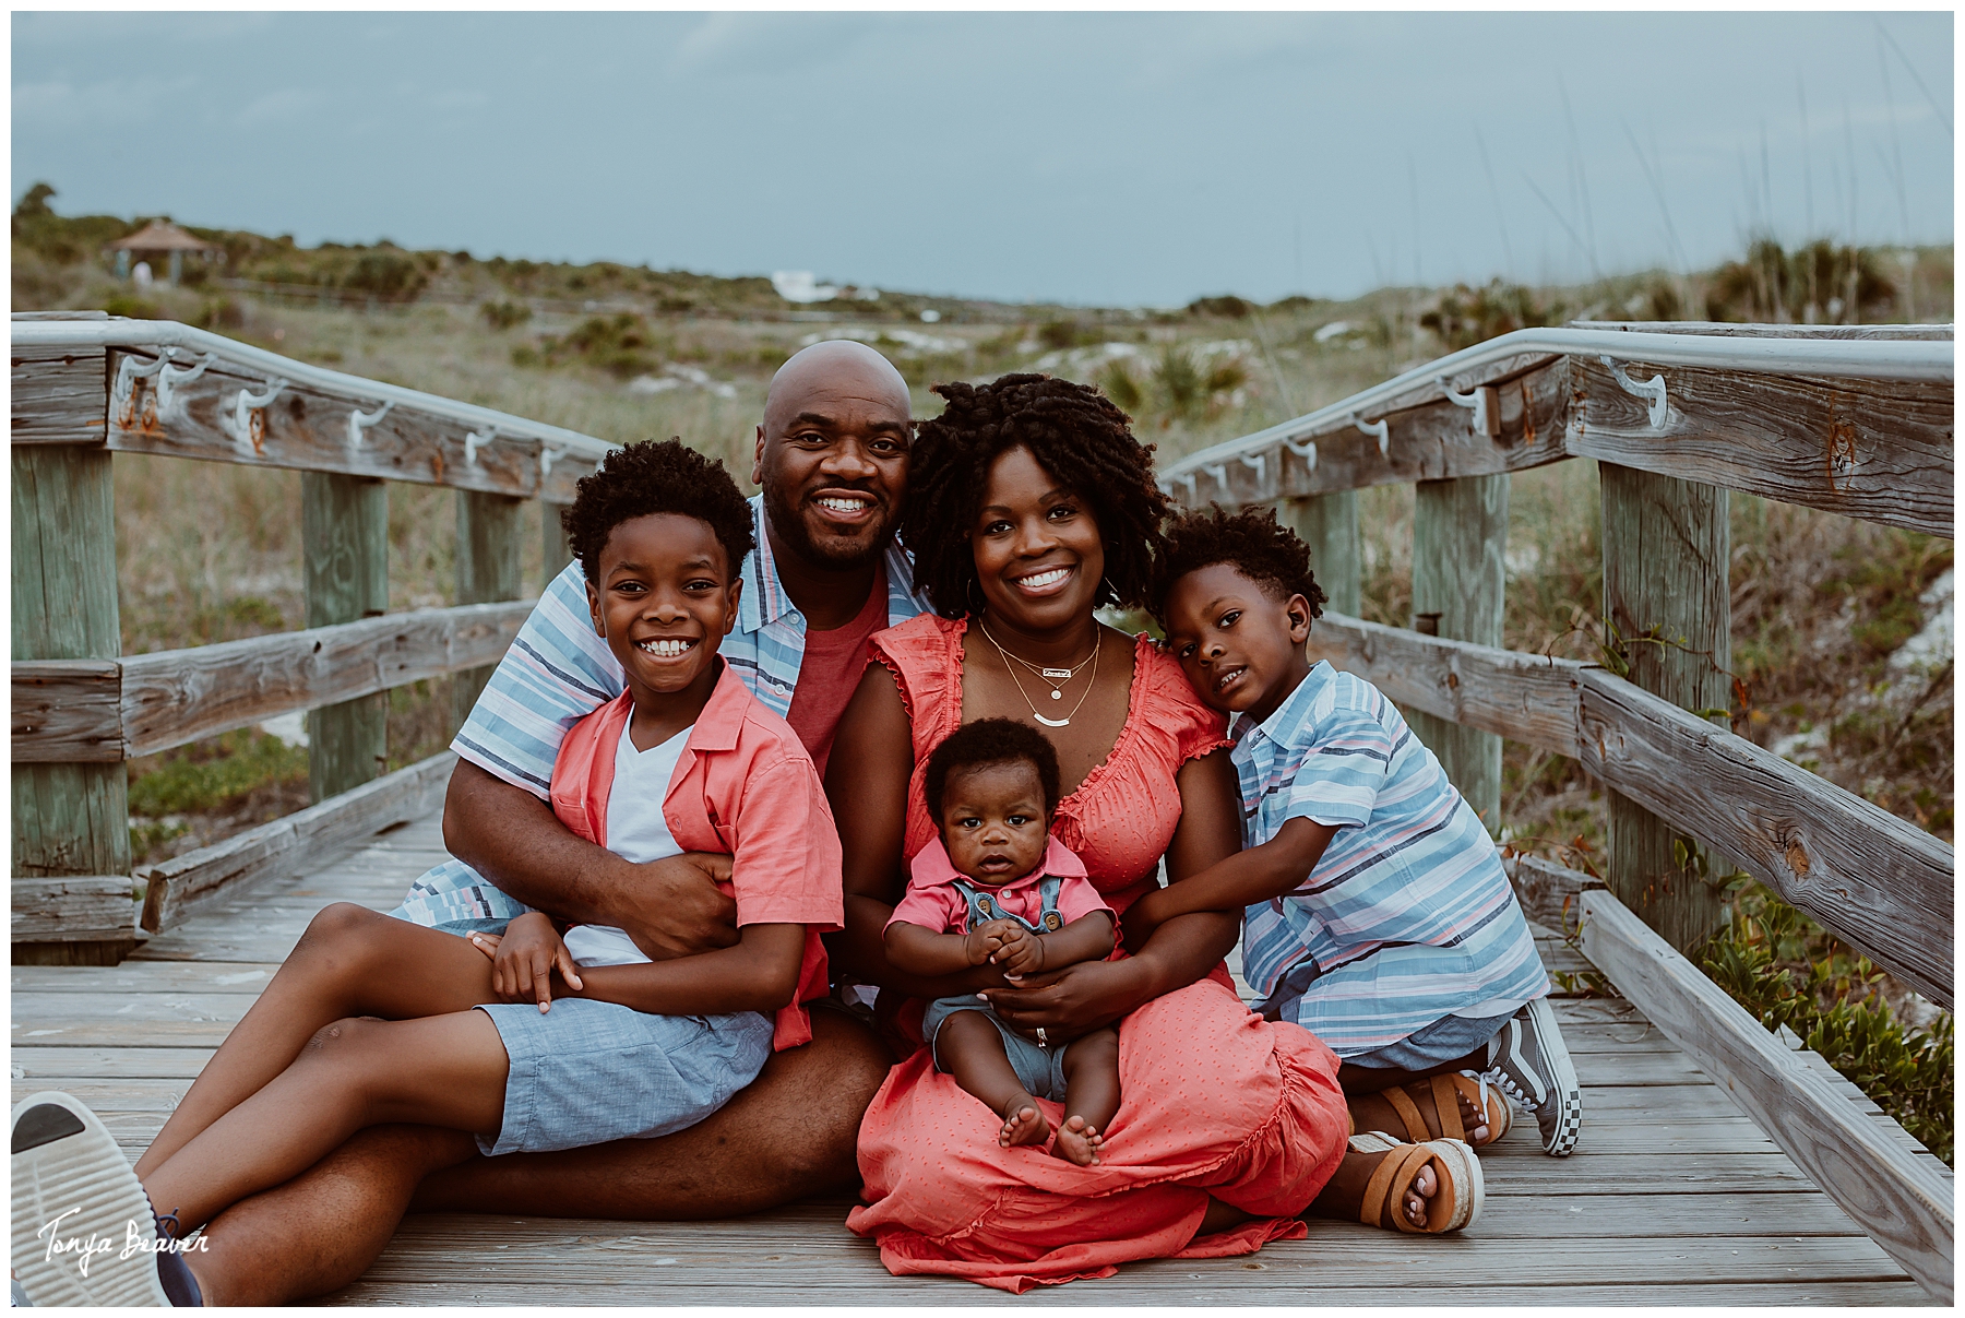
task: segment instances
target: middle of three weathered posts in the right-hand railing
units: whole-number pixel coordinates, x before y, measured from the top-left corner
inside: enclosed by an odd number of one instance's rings
[[[1501,644],[1507,599],[1507,475],[1419,481],[1413,491],[1413,627],[1448,640]],[[1419,741],[1488,833],[1501,829],[1501,739],[1407,713]]]

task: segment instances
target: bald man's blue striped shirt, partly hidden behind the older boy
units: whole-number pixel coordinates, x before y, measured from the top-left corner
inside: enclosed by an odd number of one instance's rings
[[[778,577],[764,534],[764,497],[751,499],[757,548],[739,576],[737,627],[719,654],[780,719],[792,707],[798,670],[806,662],[806,615]],[[926,611],[910,591],[914,564],[900,544],[886,548],[886,625]],[[450,748],[495,778],[550,799],[552,762],[568,729],[625,689],[621,664],[593,634],[588,577],[574,560],[546,585],[519,636],[505,650],[470,719]],[[419,925],[501,921],[525,913],[525,904],[491,886],[462,860],[446,860],[415,884],[393,913]]]

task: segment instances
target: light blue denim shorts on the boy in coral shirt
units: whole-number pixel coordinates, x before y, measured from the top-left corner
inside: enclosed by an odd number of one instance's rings
[[[497,1143],[477,1139],[487,1157],[696,1126],[757,1078],[774,1033],[758,1012],[648,1016],[586,998],[558,998],[550,1012],[533,1002],[477,1010],[497,1025],[511,1059]]]

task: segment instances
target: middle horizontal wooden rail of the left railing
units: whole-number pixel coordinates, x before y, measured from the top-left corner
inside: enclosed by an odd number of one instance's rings
[[[495,664],[531,601],[389,613],[360,623],[132,654],[14,664],[14,762],[114,762]]]

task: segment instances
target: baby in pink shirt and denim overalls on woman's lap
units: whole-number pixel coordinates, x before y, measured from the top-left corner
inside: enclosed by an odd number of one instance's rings
[[[910,974],[1002,966],[1004,978],[1112,955],[1112,907],[1085,862],[1051,837],[1057,752],[1032,727],[981,719],[927,756],[927,813],[941,831],[914,856],[908,894],[886,925],[886,957]],[[1002,1116],[996,1143],[1043,1143],[1039,1098],[1065,1106],[1053,1153],[1098,1161],[1118,1112],[1118,1031],[1032,1043],[977,996],[937,998],[922,1017],[935,1069]]]

